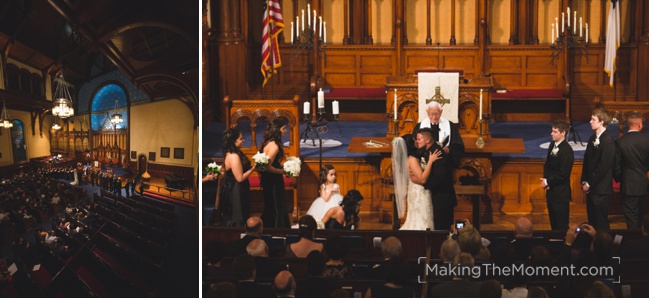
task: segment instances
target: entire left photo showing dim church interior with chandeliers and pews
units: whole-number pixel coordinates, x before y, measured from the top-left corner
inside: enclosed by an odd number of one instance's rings
[[[0,1],[0,297],[198,297],[198,1]]]

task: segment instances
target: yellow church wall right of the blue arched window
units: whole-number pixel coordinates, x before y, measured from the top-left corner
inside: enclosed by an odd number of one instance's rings
[[[146,104],[132,104],[130,111],[131,151],[138,156],[156,153],[154,163],[195,166],[198,138],[189,108],[177,99],[160,100]],[[160,147],[169,147],[169,158],[160,156]],[[174,158],[174,148],[184,148],[184,158]],[[130,156],[130,153],[129,153]]]

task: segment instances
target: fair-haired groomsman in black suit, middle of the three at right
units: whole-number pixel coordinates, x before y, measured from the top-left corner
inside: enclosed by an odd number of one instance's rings
[[[608,200],[613,194],[613,165],[615,141],[606,132],[611,117],[604,109],[596,109],[590,116],[594,134],[588,139],[581,189],[586,193],[588,223],[598,231],[609,230]]]

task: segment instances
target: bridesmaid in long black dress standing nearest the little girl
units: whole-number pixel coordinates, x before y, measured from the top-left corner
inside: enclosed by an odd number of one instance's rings
[[[268,165],[261,172],[261,187],[264,196],[264,212],[261,219],[272,228],[290,228],[291,222],[284,198],[284,147],[282,137],[286,133],[286,123],[275,118],[266,125],[264,142],[260,150],[268,156]]]

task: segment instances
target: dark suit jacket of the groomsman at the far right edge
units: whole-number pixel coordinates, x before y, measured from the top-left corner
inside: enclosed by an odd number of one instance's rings
[[[626,196],[647,195],[649,179],[649,138],[640,132],[628,132],[615,142],[615,180]]]

